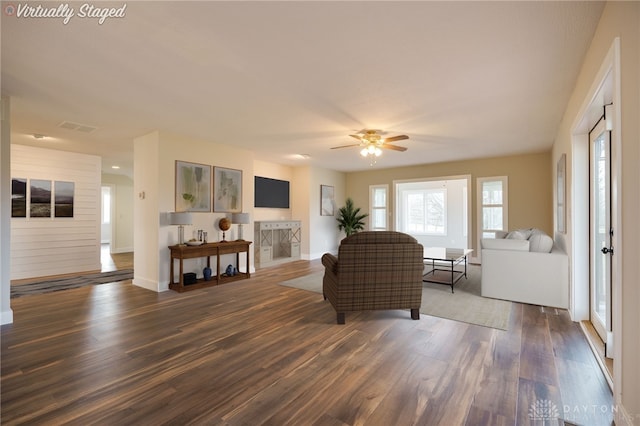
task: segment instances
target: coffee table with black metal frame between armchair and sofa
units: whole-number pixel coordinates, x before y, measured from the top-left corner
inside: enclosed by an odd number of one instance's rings
[[[467,277],[467,255],[473,252],[472,249],[427,247],[424,249],[425,265],[431,266],[431,270],[422,276],[423,282],[446,284],[453,286],[460,278]],[[456,266],[463,264],[464,269],[456,269]]]

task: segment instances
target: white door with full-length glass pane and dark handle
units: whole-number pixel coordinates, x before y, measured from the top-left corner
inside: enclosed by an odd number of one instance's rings
[[[604,342],[611,331],[611,132],[604,120],[590,138],[591,323]]]

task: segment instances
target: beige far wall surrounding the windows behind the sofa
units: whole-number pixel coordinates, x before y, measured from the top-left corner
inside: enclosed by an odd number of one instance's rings
[[[389,185],[391,224],[393,224],[393,181],[468,175],[471,181],[472,241],[476,244],[476,179],[479,177],[508,176],[509,228],[540,228],[553,235],[552,181],[549,173],[551,153],[536,153],[509,157],[454,161],[421,166],[375,169],[347,173],[347,196],[357,207],[367,211],[369,185]],[[392,225],[393,227],[393,225]]]

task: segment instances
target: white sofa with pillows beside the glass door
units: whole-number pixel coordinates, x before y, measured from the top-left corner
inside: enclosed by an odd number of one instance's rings
[[[569,307],[568,256],[551,237],[526,229],[482,239],[481,245],[482,296]]]

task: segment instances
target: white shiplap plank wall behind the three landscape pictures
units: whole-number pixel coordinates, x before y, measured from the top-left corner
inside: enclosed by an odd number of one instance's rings
[[[11,177],[74,183],[72,218],[11,218],[11,279],[100,270],[100,157],[11,145]]]

